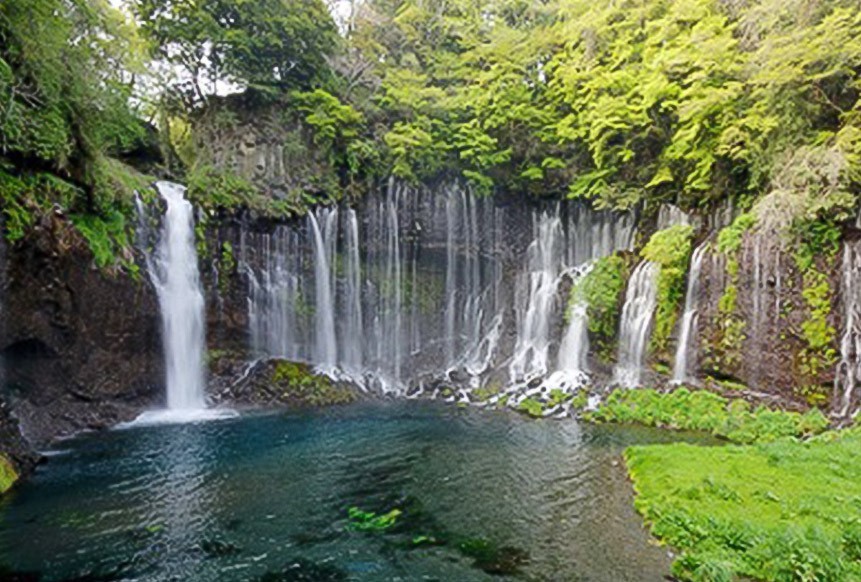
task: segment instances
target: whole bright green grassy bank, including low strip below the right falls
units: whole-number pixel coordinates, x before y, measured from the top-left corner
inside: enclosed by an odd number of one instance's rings
[[[742,443],[625,452],[636,508],[678,550],[679,579],[861,580],[861,429],[823,432],[817,410],[752,408],[686,389],[618,391],[591,419]]]

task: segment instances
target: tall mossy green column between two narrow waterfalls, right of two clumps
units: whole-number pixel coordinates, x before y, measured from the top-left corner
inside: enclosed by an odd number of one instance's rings
[[[670,335],[685,299],[685,275],[691,258],[694,229],[677,225],[652,235],[640,255],[647,261],[657,263],[658,274],[657,308],[655,328],[652,332],[652,351],[659,358],[667,359]]]

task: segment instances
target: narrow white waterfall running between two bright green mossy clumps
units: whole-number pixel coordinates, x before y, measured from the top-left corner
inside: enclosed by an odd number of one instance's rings
[[[643,261],[628,281],[619,329],[619,357],[614,381],[625,387],[640,385],[643,362],[657,307],[657,284],[660,266]]]

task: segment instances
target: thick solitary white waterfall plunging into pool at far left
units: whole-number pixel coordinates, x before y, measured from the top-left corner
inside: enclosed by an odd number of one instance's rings
[[[206,407],[203,381],[204,302],[194,247],[193,208],[185,188],[158,182],[167,203],[155,255],[148,260],[161,308],[167,408]]]

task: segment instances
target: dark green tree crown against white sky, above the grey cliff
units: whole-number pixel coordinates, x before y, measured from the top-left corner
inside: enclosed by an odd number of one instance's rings
[[[338,44],[320,0],[134,0],[132,6],[155,56],[184,73],[175,88],[189,105],[206,101],[217,82],[264,92],[311,87],[328,76],[326,56]]]

